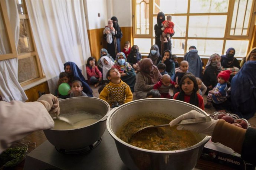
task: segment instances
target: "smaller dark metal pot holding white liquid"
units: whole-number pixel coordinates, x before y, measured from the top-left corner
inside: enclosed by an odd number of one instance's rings
[[[101,138],[106,129],[106,114],[110,110],[107,102],[99,98],[76,97],[59,101],[60,115],[79,111],[102,115],[103,118],[79,129],[44,130],[45,136],[58,149],[82,149]]]

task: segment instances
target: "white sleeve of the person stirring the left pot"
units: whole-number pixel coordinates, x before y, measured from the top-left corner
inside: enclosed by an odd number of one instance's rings
[[[31,132],[53,127],[53,119],[40,102],[0,101],[0,153]]]

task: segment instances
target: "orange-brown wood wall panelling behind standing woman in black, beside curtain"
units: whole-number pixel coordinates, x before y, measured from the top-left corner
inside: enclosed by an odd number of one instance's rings
[[[91,55],[97,60],[99,59],[101,48],[107,48],[107,43],[103,38],[105,28],[87,30]],[[124,48],[125,41],[130,41],[133,44],[132,27],[121,27],[123,37],[121,38],[121,51]]]

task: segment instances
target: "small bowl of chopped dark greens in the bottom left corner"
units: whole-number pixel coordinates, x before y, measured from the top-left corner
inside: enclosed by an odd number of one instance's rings
[[[28,148],[29,147],[24,143],[14,143],[11,147],[7,148],[0,155],[1,159],[7,160],[3,166],[12,167],[21,163],[27,155]]]

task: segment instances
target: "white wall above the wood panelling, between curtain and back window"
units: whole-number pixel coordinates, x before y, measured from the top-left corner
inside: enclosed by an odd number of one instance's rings
[[[118,19],[120,27],[132,26],[131,0],[85,0],[84,7],[88,30],[104,28],[112,16]]]

